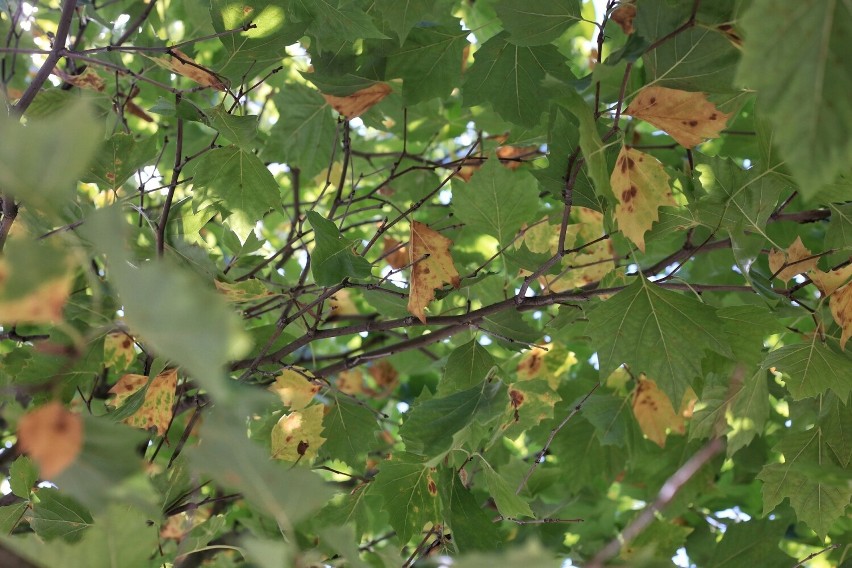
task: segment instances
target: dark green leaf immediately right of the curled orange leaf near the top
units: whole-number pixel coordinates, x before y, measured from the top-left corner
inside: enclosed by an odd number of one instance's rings
[[[405,44],[388,55],[387,76],[402,78],[402,96],[408,105],[446,97],[461,80],[467,45],[467,32],[459,27],[412,30]]]

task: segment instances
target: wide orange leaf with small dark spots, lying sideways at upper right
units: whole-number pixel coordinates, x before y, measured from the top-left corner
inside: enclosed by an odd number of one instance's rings
[[[650,122],[665,130],[678,144],[692,148],[705,138],[718,138],[730,114],[707,100],[704,93],[666,87],[645,87],[624,114]]]

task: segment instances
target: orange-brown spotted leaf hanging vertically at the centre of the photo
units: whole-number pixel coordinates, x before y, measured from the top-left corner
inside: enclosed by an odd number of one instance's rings
[[[453,241],[423,223],[411,222],[408,311],[423,323],[426,323],[426,306],[435,299],[435,289],[443,288],[444,284],[458,288],[461,284],[450,255],[452,244]]]

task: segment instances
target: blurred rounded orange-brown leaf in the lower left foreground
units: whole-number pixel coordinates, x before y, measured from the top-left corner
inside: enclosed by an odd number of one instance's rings
[[[18,421],[18,445],[52,479],[74,463],[83,447],[83,420],[58,401],[30,410]]]

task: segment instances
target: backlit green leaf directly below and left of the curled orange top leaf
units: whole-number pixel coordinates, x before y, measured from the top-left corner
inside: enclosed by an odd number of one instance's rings
[[[272,100],[280,116],[269,133],[264,157],[299,168],[306,178],[329,167],[336,127],[331,107],[322,95],[293,84]]]

